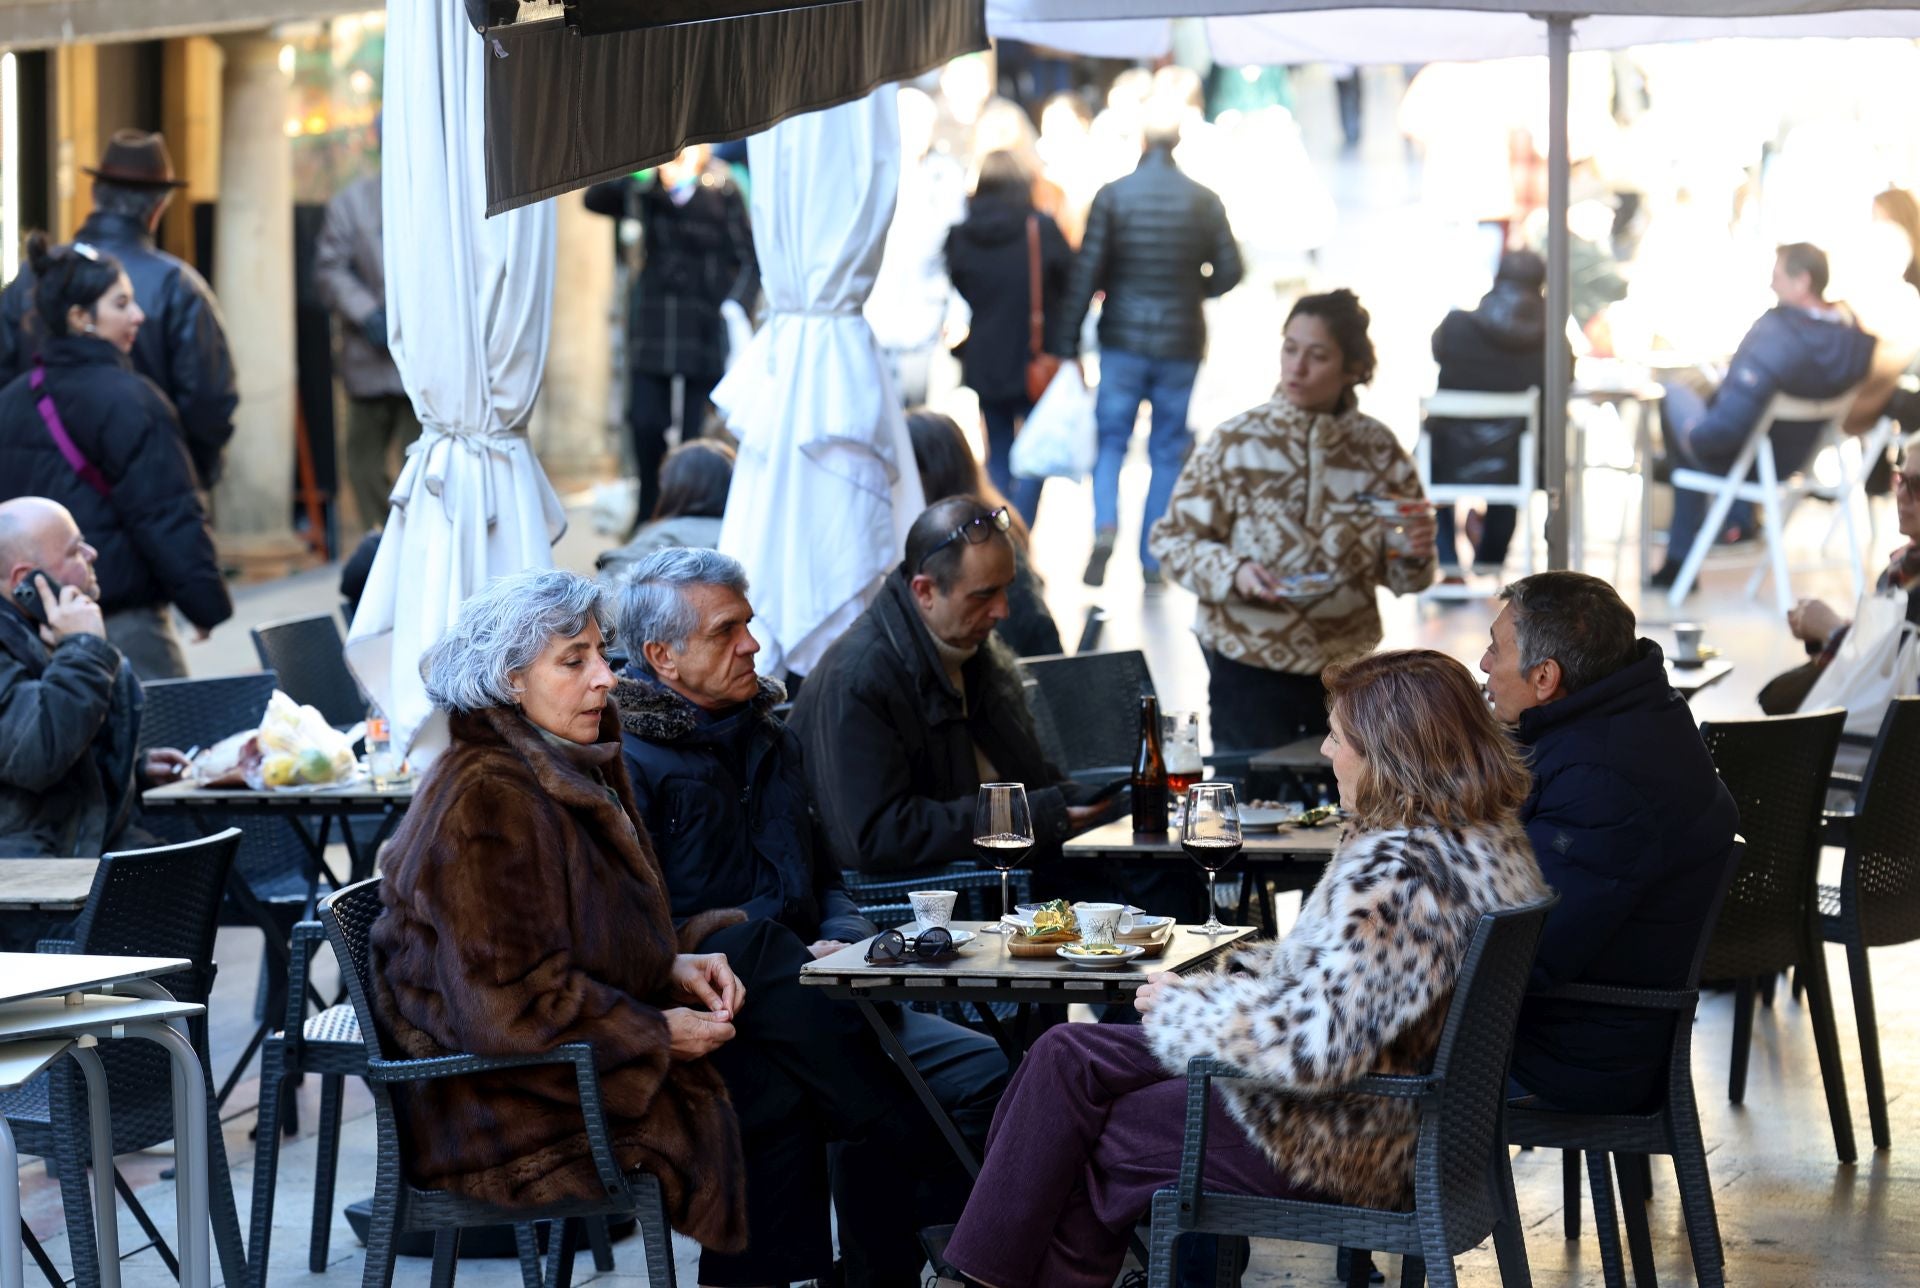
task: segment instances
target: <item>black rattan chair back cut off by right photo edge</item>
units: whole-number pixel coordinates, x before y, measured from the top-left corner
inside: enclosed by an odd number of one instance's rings
[[[1897,697],[1860,779],[1847,866],[1868,948],[1920,939],[1920,697]]]

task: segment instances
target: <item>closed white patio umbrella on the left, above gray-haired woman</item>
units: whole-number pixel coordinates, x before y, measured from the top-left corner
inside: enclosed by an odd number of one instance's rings
[[[490,578],[553,566],[566,530],[526,441],[553,317],[553,205],[486,219],[488,46],[451,4],[394,4],[386,27],[386,317],[420,440],[394,486],[348,662],[430,758],[420,655]]]

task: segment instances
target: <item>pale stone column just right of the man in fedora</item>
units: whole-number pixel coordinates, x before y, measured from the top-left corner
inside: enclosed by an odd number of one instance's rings
[[[273,576],[305,553],[294,503],[294,154],[288,77],[265,33],[223,36],[221,192],[213,294],[240,382],[213,497],[223,557]]]

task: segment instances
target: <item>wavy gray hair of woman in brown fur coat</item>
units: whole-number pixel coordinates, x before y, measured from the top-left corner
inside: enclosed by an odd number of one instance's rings
[[[553,639],[572,639],[599,622],[612,643],[612,612],[593,578],[530,568],[493,578],[461,605],[453,628],[420,658],[426,697],[444,710],[513,706],[515,672],[534,664]]]

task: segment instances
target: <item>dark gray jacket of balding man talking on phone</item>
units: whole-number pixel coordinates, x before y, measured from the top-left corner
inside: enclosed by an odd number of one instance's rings
[[[119,649],[48,649],[0,605],[0,858],[98,858],[134,806],[140,681]]]

